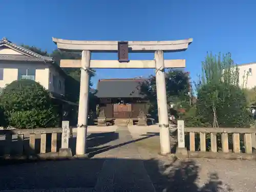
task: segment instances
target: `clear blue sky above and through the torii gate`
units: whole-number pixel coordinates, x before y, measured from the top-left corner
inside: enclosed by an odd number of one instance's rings
[[[0,0],[0,37],[51,52],[52,37],[76,40],[176,40],[192,37],[185,52],[165,59],[186,59],[192,80],[207,51],[232,54],[236,63],[256,61],[255,0]],[[134,53],[130,59],[153,59]],[[117,59],[97,53],[92,59]],[[102,69],[99,78],[147,77],[152,69]]]

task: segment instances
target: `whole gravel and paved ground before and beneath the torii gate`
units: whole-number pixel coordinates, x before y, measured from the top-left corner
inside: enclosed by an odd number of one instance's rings
[[[149,150],[151,145],[131,142],[126,127],[89,137],[92,159],[0,166],[0,192],[256,191],[255,161],[185,159],[171,163],[169,157],[157,155],[156,144]],[[104,137],[106,142],[102,142]],[[159,137],[142,141],[159,142]]]

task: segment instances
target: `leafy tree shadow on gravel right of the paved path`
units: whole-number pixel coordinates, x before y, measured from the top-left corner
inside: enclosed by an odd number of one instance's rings
[[[154,160],[144,161],[145,168],[150,176],[156,191],[164,192],[226,192],[233,191],[218,177],[217,173],[210,173],[208,181],[203,186],[196,184],[199,179],[200,167],[193,160],[180,161],[174,164],[156,166]]]

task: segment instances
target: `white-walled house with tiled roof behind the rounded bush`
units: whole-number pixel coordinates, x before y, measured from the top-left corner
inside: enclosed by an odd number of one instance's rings
[[[32,79],[51,93],[65,95],[65,73],[53,58],[17,46],[5,37],[0,40],[0,89],[18,79]]]

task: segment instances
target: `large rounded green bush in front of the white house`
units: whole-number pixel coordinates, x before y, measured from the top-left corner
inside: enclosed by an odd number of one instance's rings
[[[33,80],[16,80],[0,96],[10,126],[18,129],[59,125],[57,110],[48,91]]]

